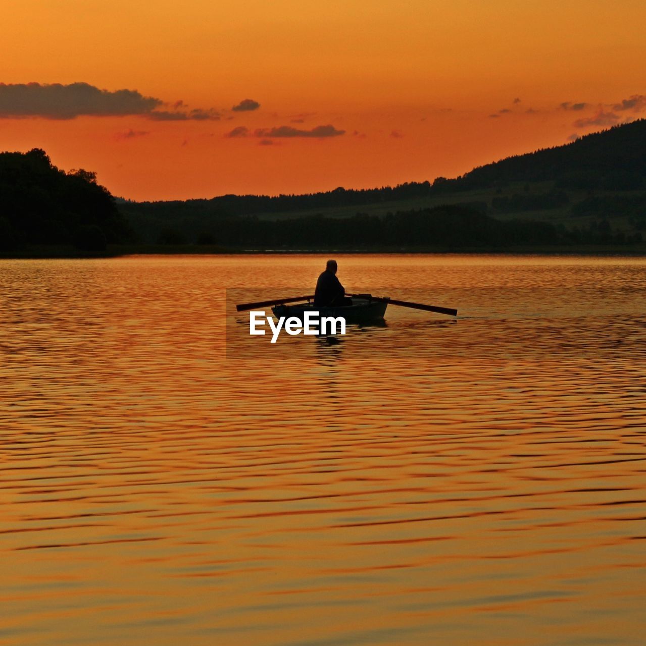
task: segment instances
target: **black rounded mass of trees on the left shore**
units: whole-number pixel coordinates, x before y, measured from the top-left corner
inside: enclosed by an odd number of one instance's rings
[[[128,231],[94,172],[60,171],[40,149],[0,153],[0,250],[74,245],[103,251]]]

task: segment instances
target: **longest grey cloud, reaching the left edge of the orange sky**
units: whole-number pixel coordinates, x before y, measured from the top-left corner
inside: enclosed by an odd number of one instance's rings
[[[0,118],[70,120],[79,116],[142,116],[156,121],[217,120],[216,110],[184,110],[177,101],[174,110],[157,110],[162,99],[144,96],[138,90],[101,90],[89,83],[0,83]],[[182,110],[180,110],[182,109]]]

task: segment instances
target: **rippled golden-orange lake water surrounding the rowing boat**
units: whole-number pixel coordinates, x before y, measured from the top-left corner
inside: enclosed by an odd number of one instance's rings
[[[646,260],[339,256],[458,319],[227,359],[324,260],[0,261],[0,644],[645,643]]]

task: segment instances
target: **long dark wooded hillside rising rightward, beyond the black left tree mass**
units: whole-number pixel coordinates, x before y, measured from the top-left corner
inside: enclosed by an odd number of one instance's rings
[[[483,191],[488,191],[486,199],[482,198]],[[472,193],[479,197],[469,200]],[[577,201],[573,202],[571,196],[575,193]],[[415,203],[421,208],[411,208]],[[544,224],[491,224],[488,236],[497,231],[498,245],[521,239],[523,242],[516,244],[546,244],[547,238],[554,244],[640,242],[641,231],[646,229],[646,120],[590,134],[567,145],[506,158],[458,178],[438,177],[433,183],[409,182],[358,190],[339,187],[304,195],[223,195],[185,202],[118,200],[120,211],[147,243],[246,247],[305,245],[308,227],[315,232],[313,236],[319,236],[318,240],[309,240],[308,245],[344,245],[350,239],[356,239],[354,245],[415,244],[415,236],[407,242],[403,240],[409,222],[417,222],[422,227],[420,231],[425,231],[424,218],[458,213],[446,208],[438,211],[434,206],[457,203],[460,213],[471,209],[480,215],[505,219],[507,214],[513,217],[522,212],[523,220],[541,220]],[[366,209],[370,205],[376,207]],[[376,209],[380,210],[380,218],[374,216]],[[555,209],[573,218],[565,228],[544,221],[545,213]],[[366,213],[369,210],[373,211],[370,216]],[[343,216],[338,215],[341,211]],[[405,211],[411,213],[405,215]],[[542,212],[542,217],[533,217],[535,212]],[[630,218],[630,227],[625,231],[610,223],[620,216]],[[455,222],[464,246],[473,244],[469,242],[473,232],[468,227],[474,223],[475,220]],[[402,231],[394,230],[400,225]],[[515,234],[510,233],[513,227]],[[524,233],[519,233],[521,230]],[[551,233],[546,233],[548,230]],[[481,240],[487,238],[479,231]],[[455,236],[445,243],[442,235],[437,235],[436,244],[459,246]],[[491,244],[488,240],[486,244]],[[424,244],[433,243],[426,240]]]

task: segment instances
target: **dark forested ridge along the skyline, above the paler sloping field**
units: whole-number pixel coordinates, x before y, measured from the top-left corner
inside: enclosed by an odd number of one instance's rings
[[[457,178],[407,182],[395,187],[344,189],[303,195],[222,195],[210,200],[129,202],[124,212],[210,214],[215,217],[286,213],[310,209],[394,202],[442,196],[474,189],[504,187],[512,182],[555,183],[555,189],[635,191],[646,189],[646,120],[588,134],[572,143],[515,155],[480,166]]]

